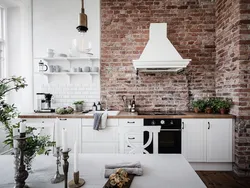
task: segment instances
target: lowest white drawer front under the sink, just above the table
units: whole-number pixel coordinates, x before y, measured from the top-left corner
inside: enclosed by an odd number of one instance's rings
[[[118,153],[118,144],[82,142],[82,153]]]

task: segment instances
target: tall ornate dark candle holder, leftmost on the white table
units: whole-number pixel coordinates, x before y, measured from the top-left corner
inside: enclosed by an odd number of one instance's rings
[[[15,174],[15,181],[16,185],[15,188],[24,188],[25,186],[25,180],[28,178],[29,173],[25,170],[25,165],[23,162],[24,159],[24,147],[26,145],[26,135],[22,134],[20,136],[14,136],[14,139],[18,141],[18,148],[20,150],[20,163],[17,167],[17,172]]]

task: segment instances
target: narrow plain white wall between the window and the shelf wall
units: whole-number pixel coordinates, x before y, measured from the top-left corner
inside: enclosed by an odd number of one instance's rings
[[[25,89],[11,92],[8,102],[15,104],[20,112],[29,112],[33,109],[31,0],[9,0],[4,5],[7,8],[7,76],[25,77],[28,84]]]

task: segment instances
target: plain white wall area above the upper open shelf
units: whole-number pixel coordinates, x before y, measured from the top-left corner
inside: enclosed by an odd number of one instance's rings
[[[88,16],[86,40],[92,42],[93,52],[100,54],[100,0],[85,0]],[[78,14],[81,0],[34,0],[34,57],[46,56],[47,48],[68,53],[72,40],[79,36]]]

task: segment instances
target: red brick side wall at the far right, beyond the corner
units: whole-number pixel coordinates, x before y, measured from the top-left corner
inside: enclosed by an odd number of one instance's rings
[[[250,176],[250,1],[216,1],[216,95],[233,98],[235,167]]]

